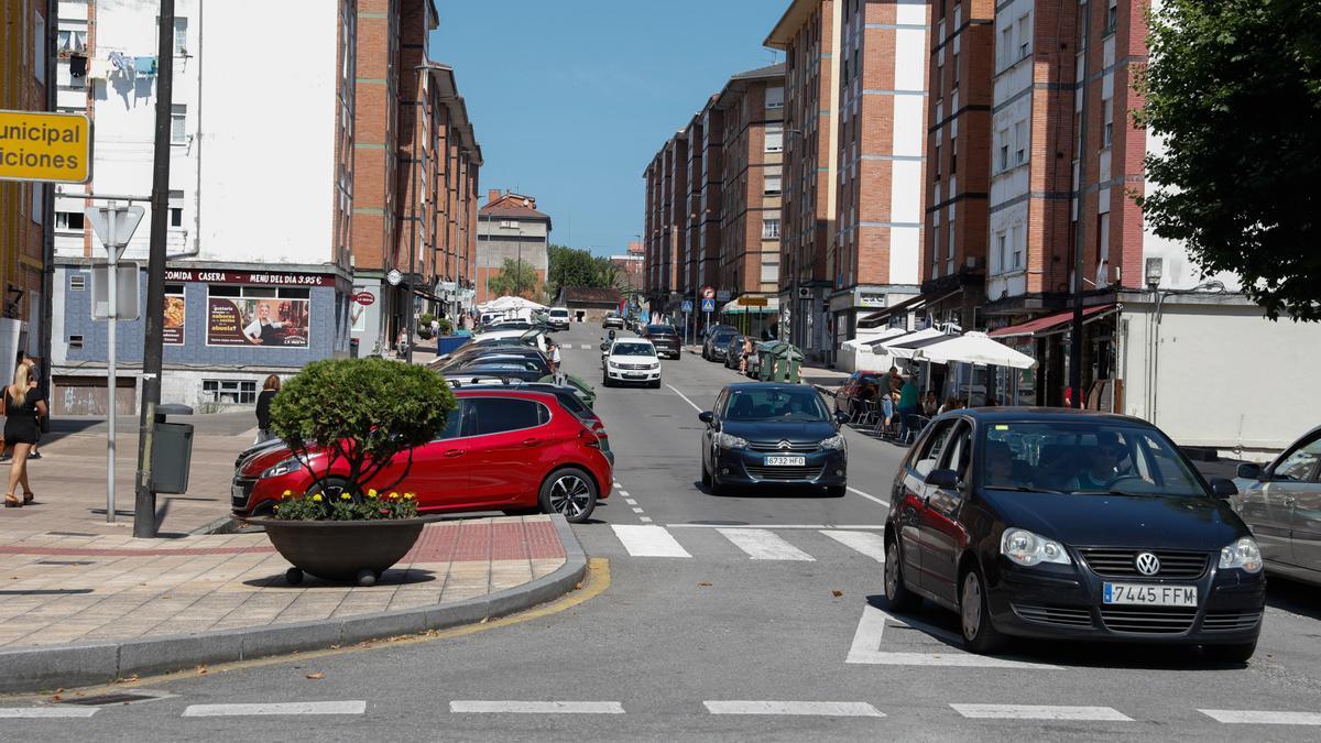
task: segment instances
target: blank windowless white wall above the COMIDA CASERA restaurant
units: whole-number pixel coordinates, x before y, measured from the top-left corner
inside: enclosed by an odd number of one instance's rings
[[[334,262],[338,3],[205,4],[205,260]]]

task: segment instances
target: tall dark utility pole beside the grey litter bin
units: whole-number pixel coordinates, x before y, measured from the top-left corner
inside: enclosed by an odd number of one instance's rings
[[[161,0],[156,45],[156,139],[152,156],[152,234],[147,258],[147,337],[143,345],[143,406],[137,434],[137,485],[133,537],[156,535],[156,492],[152,484],[152,444],[156,406],[161,402],[162,341],[165,337],[165,234],[169,217],[170,108],[174,97],[174,0]],[[114,280],[116,280],[118,276]],[[114,395],[115,390],[110,390]],[[114,401],[114,397],[111,397]]]

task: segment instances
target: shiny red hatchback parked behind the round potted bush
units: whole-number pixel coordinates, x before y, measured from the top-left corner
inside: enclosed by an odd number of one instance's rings
[[[454,390],[454,398],[458,407],[445,430],[413,448],[407,477],[391,485],[408,467],[408,452],[400,452],[369,488],[416,493],[427,513],[539,509],[575,524],[610,494],[605,431],[584,424],[553,394],[478,387]],[[310,467],[322,473],[328,459],[313,451]],[[334,463],[328,494],[343,492],[347,471]],[[231,505],[238,516],[268,514],[285,490],[312,488],[313,477],[291,450],[258,450],[234,473]]]

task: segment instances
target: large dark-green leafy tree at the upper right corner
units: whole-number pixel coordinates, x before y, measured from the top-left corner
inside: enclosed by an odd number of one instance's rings
[[[1148,26],[1152,229],[1272,320],[1321,321],[1321,3],[1165,0]]]

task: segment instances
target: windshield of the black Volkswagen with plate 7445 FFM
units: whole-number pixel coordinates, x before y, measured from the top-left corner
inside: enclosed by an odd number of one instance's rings
[[[987,488],[1207,497],[1169,439],[1123,420],[992,423],[980,448]]]

